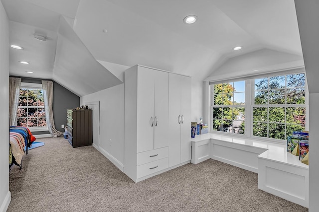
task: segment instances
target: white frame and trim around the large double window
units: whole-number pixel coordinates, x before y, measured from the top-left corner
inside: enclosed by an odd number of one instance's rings
[[[213,98],[211,97],[212,95],[212,84],[219,84],[219,83],[225,83],[227,81],[243,81],[244,78],[238,78],[238,79],[225,79],[225,80],[218,80],[218,81],[210,81],[208,84],[208,103],[209,103],[209,124],[208,124],[208,129],[209,133],[214,133],[214,134],[220,134],[220,135],[227,135],[231,137],[239,137],[239,138],[249,138],[249,139],[254,139],[254,140],[260,140],[260,141],[267,141],[267,142],[276,142],[276,143],[286,143],[287,141],[285,140],[279,140],[279,139],[272,139],[272,138],[264,138],[264,137],[258,137],[258,136],[253,136],[253,101],[255,98],[254,90],[255,90],[255,84],[254,84],[254,79],[257,79],[259,77],[271,77],[271,76],[280,76],[280,75],[287,75],[287,74],[295,74],[295,73],[305,73],[305,69],[294,69],[294,70],[286,70],[286,71],[279,71],[279,72],[271,72],[268,74],[256,74],[253,76],[248,76],[245,79],[245,134],[234,134],[234,133],[226,133],[226,132],[221,132],[221,131],[214,131],[213,126],[212,126],[212,120],[213,120]],[[211,87],[210,87],[211,86]],[[249,104],[248,104],[249,103]],[[271,106],[276,106],[276,105],[271,105]],[[278,105],[280,107],[280,105]],[[282,105],[281,105],[282,106]],[[292,105],[294,106],[294,105]],[[305,125],[305,130],[309,130],[309,90],[308,90],[308,83],[307,83],[307,77],[306,77],[306,82],[305,82],[305,104],[298,105],[300,107],[306,107],[306,125]]]

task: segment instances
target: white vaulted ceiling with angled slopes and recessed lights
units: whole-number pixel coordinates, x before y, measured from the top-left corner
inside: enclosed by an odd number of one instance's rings
[[[53,79],[80,96],[122,83],[98,61],[142,64],[203,80],[231,59],[261,50],[302,59],[294,0],[1,2],[10,44],[24,48],[10,49],[10,75]],[[185,24],[187,15],[198,20]],[[234,51],[235,46],[243,48]]]

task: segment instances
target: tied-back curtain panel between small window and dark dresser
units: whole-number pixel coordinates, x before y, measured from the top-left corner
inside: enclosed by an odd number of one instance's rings
[[[54,119],[53,119],[53,82],[49,80],[42,80],[42,89],[44,97],[44,110],[45,119],[48,130],[53,137],[63,136],[63,133],[55,129]]]

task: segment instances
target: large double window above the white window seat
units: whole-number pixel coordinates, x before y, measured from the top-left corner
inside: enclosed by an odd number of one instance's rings
[[[306,129],[305,73],[213,84],[211,93],[212,131],[286,140]]]

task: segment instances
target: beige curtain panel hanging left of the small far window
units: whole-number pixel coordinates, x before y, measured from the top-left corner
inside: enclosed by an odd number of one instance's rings
[[[21,78],[9,77],[9,125],[16,126]]]

